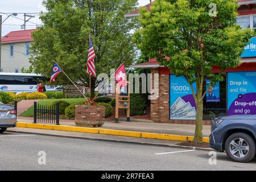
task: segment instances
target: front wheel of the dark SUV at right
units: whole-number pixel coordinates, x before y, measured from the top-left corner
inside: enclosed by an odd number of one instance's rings
[[[250,162],[255,156],[255,140],[245,133],[232,134],[226,139],[225,151],[234,162]]]

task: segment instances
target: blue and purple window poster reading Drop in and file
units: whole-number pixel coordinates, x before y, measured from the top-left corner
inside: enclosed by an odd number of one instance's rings
[[[256,114],[256,72],[228,73],[228,115]]]

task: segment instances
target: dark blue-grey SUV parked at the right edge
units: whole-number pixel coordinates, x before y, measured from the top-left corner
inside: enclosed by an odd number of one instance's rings
[[[256,115],[230,115],[213,119],[210,147],[224,152],[235,162],[255,156]]]

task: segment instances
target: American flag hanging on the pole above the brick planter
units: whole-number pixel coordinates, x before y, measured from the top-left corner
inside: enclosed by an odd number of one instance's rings
[[[87,59],[87,73],[89,75],[92,75],[93,77],[96,77],[96,71],[95,71],[95,63],[94,58],[96,57],[92,39],[89,37],[89,52],[88,52],[88,59]]]

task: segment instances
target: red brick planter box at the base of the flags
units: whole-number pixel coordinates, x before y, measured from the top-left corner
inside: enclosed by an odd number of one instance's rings
[[[77,126],[100,127],[105,122],[104,106],[76,105],[75,123]]]

